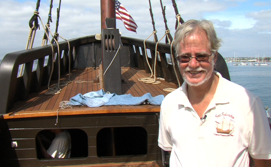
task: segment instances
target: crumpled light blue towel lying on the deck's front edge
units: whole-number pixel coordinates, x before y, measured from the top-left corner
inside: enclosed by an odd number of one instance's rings
[[[88,106],[88,107],[99,107],[99,106],[113,106],[113,105],[140,105],[140,104],[152,104],[161,105],[164,95],[158,95],[152,97],[150,93],[146,93],[141,97],[134,97],[131,94],[128,95],[117,95],[115,93],[106,94],[103,89],[96,92],[88,92],[84,95],[79,93],[72,97],[68,105],[72,106]]]

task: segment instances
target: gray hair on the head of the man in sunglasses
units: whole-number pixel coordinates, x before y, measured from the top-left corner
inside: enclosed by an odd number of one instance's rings
[[[184,43],[184,39],[188,35],[192,35],[196,31],[203,30],[209,40],[209,48],[212,52],[217,52],[221,46],[222,40],[217,38],[216,31],[214,29],[213,23],[208,20],[200,19],[200,20],[188,20],[187,22],[183,23],[178,27],[175,32],[174,37],[174,47],[176,55],[179,54],[180,51],[180,43]]]

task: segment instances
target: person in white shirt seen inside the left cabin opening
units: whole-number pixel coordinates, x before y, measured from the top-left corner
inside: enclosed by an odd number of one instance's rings
[[[42,155],[45,158],[69,158],[71,156],[70,133],[63,129],[51,129],[51,132],[55,133],[55,138],[47,150],[42,145],[41,137],[37,136]]]

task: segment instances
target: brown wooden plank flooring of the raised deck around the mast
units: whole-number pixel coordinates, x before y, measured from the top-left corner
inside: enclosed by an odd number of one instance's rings
[[[123,67],[121,68],[121,76],[124,80],[122,84],[122,93],[123,94],[131,94],[132,96],[143,96],[145,93],[151,93],[152,96],[164,95],[166,96],[169,92],[163,91],[164,88],[178,88],[178,85],[167,83],[163,80],[161,84],[145,84],[141,81],[138,81],[139,78],[146,78],[149,77],[150,74],[147,74],[145,71],[136,70],[133,68]],[[34,116],[38,116],[38,113],[41,116],[45,115],[55,115],[57,110],[59,109],[59,103],[61,101],[68,101],[71,97],[81,93],[85,94],[87,92],[98,91],[100,90],[99,83],[93,83],[94,79],[99,76],[99,68],[86,68],[86,69],[75,69],[71,72],[70,80],[71,83],[62,87],[61,93],[57,95],[45,95],[44,93],[47,92],[46,86],[43,87],[43,90],[37,93],[32,93],[29,98],[25,101],[18,101],[14,103],[13,108],[9,110],[8,114],[5,114],[4,117],[8,118],[15,118],[19,117],[27,117],[26,115],[30,116],[31,113]],[[69,81],[69,75],[65,75],[60,79],[61,81]],[[75,83],[75,81],[87,81],[85,83]],[[52,81],[51,85],[57,83],[57,81]],[[151,105],[148,105],[151,106]],[[120,110],[115,110],[117,112],[128,112],[129,108],[141,108],[140,106],[123,106]],[[115,106],[101,106],[98,110],[101,113],[108,113],[107,111],[110,109],[114,109]],[[124,109],[125,108],[125,109]],[[155,111],[159,111],[159,106],[155,107]],[[93,108],[89,108],[87,106],[73,106],[73,109],[65,109],[67,111],[72,111],[76,113],[76,111],[83,111],[84,113],[87,110],[92,112]],[[102,110],[105,110],[102,111]],[[60,110],[59,110],[60,111]],[[89,111],[89,112],[90,112]],[[95,109],[97,111],[97,109]],[[142,110],[143,111],[143,110]],[[147,109],[146,109],[147,111]],[[46,113],[47,112],[47,113]],[[61,112],[64,114],[63,109]],[[59,113],[61,113],[59,112]],[[19,114],[18,114],[19,113]],[[46,113],[46,114],[45,114]],[[79,113],[79,112],[78,112]],[[98,112],[97,112],[98,113]],[[70,114],[69,114],[70,115]]]

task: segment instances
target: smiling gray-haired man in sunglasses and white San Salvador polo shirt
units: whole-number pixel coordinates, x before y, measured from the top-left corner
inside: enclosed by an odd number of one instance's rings
[[[184,79],[160,111],[158,145],[170,166],[271,166],[271,131],[261,100],[214,71],[221,40],[207,20],[189,20],[175,32]]]

